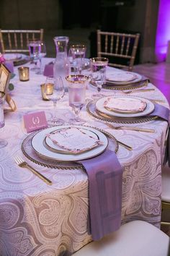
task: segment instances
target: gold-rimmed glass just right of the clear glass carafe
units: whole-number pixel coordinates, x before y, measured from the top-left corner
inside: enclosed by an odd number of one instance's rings
[[[84,66],[84,57],[86,54],[86,46],[83,44],[72,45],[68,52],[68,58],[74,69],[74,74],[81,74]]]

